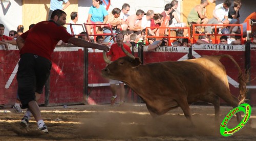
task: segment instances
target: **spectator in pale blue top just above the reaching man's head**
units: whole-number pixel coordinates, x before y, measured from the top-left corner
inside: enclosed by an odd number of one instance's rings
[[[65,3],[65,6],[62,8],[63,2]],[[50,1],[50,11],[48,14],[48,20],[51,19],[52,12],[56,9],[65,10],[70,5],[69,0],[51,0]]]

